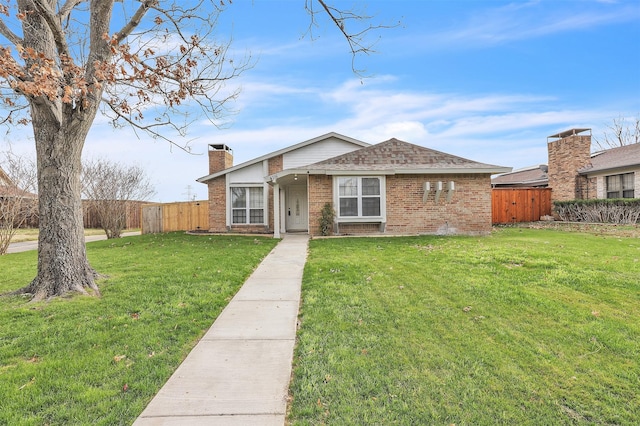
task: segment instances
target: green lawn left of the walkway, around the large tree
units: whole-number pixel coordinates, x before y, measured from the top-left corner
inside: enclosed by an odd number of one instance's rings
[[[272,238],[144,235],[87,245],[101,298],[0,298],[0,424],[128,425],[211,326]],[[0,257],[0,293],[36,252]]]

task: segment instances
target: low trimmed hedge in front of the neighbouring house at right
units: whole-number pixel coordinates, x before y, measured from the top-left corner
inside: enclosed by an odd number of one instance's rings
[[[554,211],[569,222],[636,224],[640,218],[640,199],[615,198],[554,201]]]

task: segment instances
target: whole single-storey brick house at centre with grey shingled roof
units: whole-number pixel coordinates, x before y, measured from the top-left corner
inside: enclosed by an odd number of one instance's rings
[[[209,146],[212,232],[318,235],[334,207],[338,234],[486,234],[491,175],[509,168],[390,139],[369,145],[329,133],[233,166]]]

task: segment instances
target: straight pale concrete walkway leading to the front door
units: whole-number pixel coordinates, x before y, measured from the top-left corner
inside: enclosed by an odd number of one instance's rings
[[[134,426],[284,424],[308,241],[285,235]]]

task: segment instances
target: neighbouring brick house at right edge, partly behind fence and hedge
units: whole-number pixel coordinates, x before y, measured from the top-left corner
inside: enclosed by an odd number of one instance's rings
[[[555,201],[635,198],[640,194],[640,144],[591,153],[591,129],[570,129],[547,137],[547,151],[548,167],[498,175],[492,185],[548,186]]]

